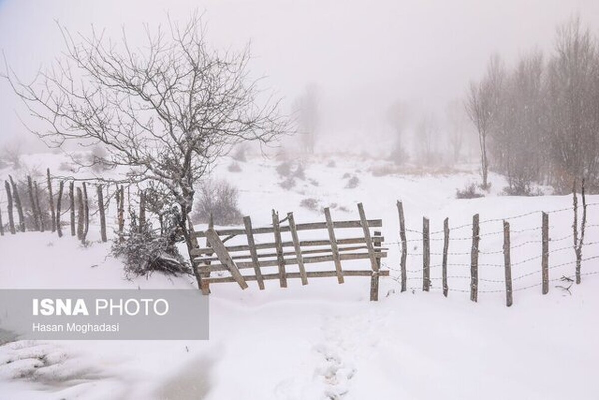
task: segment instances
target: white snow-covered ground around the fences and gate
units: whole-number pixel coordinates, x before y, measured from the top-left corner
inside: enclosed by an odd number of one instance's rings
[[[329,166],[331,159],[335,166]],[[63,159],[47,154],[24,161],[56,173]],[[307,286],[291,280],[288,289],[267,281],[262,291],[255,283],[244,291],[214,284],[210,340],[11,342],[0,347],[0,399],[597,398],[599,274],[583,276],[571,295],[552,281],[542,296],[533,286],[540,282],[540,259],[525,261],[540,254],[534,242],[540,231],[531,228],[540,226],[541,216],[532,212],[570,207],[571,196],[499,196],[505,183],[492,175],[491,195],[456,200],[456,189],[477,180],[466,167],[447,175],[394,173],[381,162],[352,156],[310,160],[305,180],[285,190],[278,186],[285,180],[276,172],[279,161],[250,159],[239,163],[241,172],[229,172],[228,164],[213,175],[239,188],[241,211],[255,226],[270,223],[271,208],[294,211],[297,222],[314,222],[323,220],[319,208],[331,205],[334,219],[356,219],[356,203],[363,202],[367,217],[383,219],[385,268],[392,277],[400,259],[397,199],[410,229],[419,231],[427,216],[431,231],[438,231],[449,217],[450,226],[464,226],[452,231],[453,238],[468,237],[471,216],[480,213],[481,220],[491,221],[481,225],[479,302],[459,291],[468,289],[469,269],[458,264],[468,263],[470,241],[452,241],[450,251],[458,254],[450,256],[456,265],[450,265],[444,298],[440,268],[431,269],[430,293],[418,289],[422,250],[418,234],[409,232],[409,253],[416,253],[408,258],[409,286],[415,290],[400,293],[400,284],[385,278],[375,303],[368,301],[366,278],[347,278],[343,285],[320,278]],[[347,189],[353,176],[359,184]],[[315,211],[300,207],[306,198],[316,200]],[[588,202],[599,202],[599,196],[588,196]],[[528,215],[510,221],[515,293],[507,308],[503,268],[494,266],[503,263],[498,253],[503,239],[494,232],[501,231],[501,218],[522,214]],[[574,271],[571,238],[563,239],[571,233],[571,219],[571,210],[550,214],[552,279]],[[599,207],[589,207],[588,223],[599,223]],[[107,257],[110,245],[99,243],[96,231],[90,228],[87,248],[51,233],[5,235],[0,287],[195,287],[190,277],[161,274],[125,280],[122,265]],[[599,229],[589,228],[586,241],[598,240]],[[440,263],[435,253],[441,244],[431,242],[433,266]],[[583,257],[597,254],[599,246],[590,245]],[[597,260],[583,263],[583,272],[593,271],[599,271]]]

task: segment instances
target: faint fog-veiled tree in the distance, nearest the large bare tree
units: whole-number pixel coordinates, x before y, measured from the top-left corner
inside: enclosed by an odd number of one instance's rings
[[[298,133],[302,147],[313,154],[316,146],[316,130],[319,124],[318,89],[316,84],[308,84],[304,93],[293,104],[297,118]]]

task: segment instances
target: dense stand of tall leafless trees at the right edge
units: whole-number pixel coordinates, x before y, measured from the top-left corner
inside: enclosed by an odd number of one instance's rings
[[[491,170],[512,194],[531,194],[533,183],[563,193],[582,178],[599,191],[599,40],[578,18],[559,26],[548,56],[530,51],[512,68],[492,57],[465,107],[479,134],[482,187]]]

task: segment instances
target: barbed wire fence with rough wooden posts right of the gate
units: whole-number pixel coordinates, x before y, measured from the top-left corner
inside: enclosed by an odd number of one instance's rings
[[[441,291],[444,296],[449,292],[470,293],[472,301],[478,300],[479,293],[506,293],[508,307],[513,303],[513,292],[541,287],[541,293],[547,294],[550,284],[555,284],[559,290],[571,294],[570,289],[574,282],[577,284],[582,277],[599,274],[597,263],[591,263],[592,260],[599,259],[599,251],[594,251],[599,250],[599,241],[584,241],[585,231],[592,232],[599,228],[599,223],[588,223],[587,215],[588,208],[599,206],[599,202],[587,204],[584,192],[582,205],[577,203],[577,198],[578,195],[574,192],[573,206],[550,211],[536,210],[505,218],[483,220],[480,220],[479,214],[475,214],[472,223],[452,228],[449,228],[449,219],[446,218],[444,228],[437,231],[429,231],[429,220],[426,217],[423,217],[422,229],[407,228],[403,204],[398,201],[400,240],[383,242],[383,246],[386,247],[396,245],[401,254],[398,266],[384,265],[395,272],[389,279],[401,285],[401,292]],[[573,213],[574,216],[571,226],[568,227],[572,229],[572,233],[564,235],[564,225],[549,225],[549,218],[567,212]],[[510,229],[510,223],[532,216],[540,217],[540,226]],[[489,228],[489,232],[481,232],[481,226],[492,226],[494,223],[503,224],[503,229]],[[470,235],[461,233],[468,228],[471,229]],[[561,236],[550,236],[550,229],[553,228],[558,228],[558,231],[562,232]],[[458,235],[455,235],[456,232]],[[537,235],[538,238],[534,238],[533,235]],[[491,241],[503,238],[503,246],[497,250],[481,250],[479,247],[482,238]],[[512,244],[514,239],[518,241]],[[571,244],[567,244],[568,240],[571,240]],[[470,249],[464,249],[468,244],[471,245]],[[538,247],[534,249],[533,246]],[[456,247],[458,251],[449,250]],[[566,259],[568,250],[572,251],[573,260]],[[582,254],[588,253],[589,250],[594,254],[583,257]],[[518,251],[524,256],[512,261],[512,251]],[[503,262],[493,262],[501,255]],[[431,256],[440,257],[441,262],[431,263]],[[464,257],[469,259],[464,260]],[[550,263],[550,260],[553,263]],[[585,265],[584,272],[581,269],[582,264]],[[418,268],[414,268],[413,265],[418,265]],[[513,267],[516,275],[512,277]],[[467,269],[470,270],[470,274],[467,273]],[[431,277],[431,271],[439,270],[440,273]],[[550,275],[552,278],[549,278]]]

